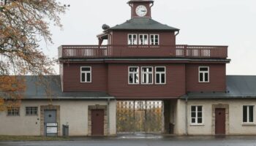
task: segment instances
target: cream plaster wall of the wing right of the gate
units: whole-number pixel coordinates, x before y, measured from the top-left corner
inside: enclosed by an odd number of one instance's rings
[[[252,135],[256,134],[256,123],[246,125],[243,124],[243,105],[254,105],[256,108],[256,100],[189,100],[188,101],[188,133],[191,135],[211,135],[212,134],[212,104],[228,104],[229,105],[229,134],[230,135]],[[190,106],[203,105],[203,125],[192,126],[190,124]],[[254,121],[256,121],[256,110],[254,112]]]

